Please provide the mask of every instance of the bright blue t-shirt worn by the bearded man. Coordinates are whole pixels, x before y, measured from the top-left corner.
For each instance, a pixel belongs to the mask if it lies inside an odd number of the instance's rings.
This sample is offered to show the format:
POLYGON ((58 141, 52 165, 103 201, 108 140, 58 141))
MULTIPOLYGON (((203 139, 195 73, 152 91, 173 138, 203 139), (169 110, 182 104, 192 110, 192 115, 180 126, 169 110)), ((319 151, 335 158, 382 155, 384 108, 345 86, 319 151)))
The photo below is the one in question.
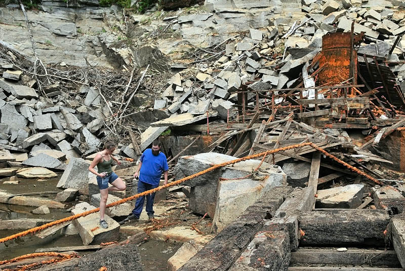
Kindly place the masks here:
POLYGON ((139 180, 151 185, 159 185, 161 174, 169 170, 165 153, 153 155, 152 149, 146 149, 141 156, 141 171, 139 180))

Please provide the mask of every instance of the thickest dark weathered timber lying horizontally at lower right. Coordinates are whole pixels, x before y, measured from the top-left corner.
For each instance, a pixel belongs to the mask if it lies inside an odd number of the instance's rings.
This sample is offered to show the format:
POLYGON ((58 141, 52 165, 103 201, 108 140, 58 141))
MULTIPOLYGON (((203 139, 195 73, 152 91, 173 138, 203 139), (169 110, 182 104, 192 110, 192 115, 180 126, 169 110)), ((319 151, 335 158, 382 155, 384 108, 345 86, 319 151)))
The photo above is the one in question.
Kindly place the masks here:
POLYGON ((351 209, 304 212, 299 225, 302 245, 385 245, 389 223, 384 210, 351 209))

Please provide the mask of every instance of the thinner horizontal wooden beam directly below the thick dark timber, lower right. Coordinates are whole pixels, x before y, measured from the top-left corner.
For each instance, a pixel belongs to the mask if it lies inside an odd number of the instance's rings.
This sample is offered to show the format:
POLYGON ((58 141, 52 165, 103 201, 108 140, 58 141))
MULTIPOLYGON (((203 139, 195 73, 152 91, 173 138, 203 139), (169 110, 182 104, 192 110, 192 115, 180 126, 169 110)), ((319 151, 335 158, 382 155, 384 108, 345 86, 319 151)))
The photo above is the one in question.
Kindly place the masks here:
POLYGON ((290 264, 371 265, 400 267, 394 250, 348 249, 304 249, 291 252, 290 264))

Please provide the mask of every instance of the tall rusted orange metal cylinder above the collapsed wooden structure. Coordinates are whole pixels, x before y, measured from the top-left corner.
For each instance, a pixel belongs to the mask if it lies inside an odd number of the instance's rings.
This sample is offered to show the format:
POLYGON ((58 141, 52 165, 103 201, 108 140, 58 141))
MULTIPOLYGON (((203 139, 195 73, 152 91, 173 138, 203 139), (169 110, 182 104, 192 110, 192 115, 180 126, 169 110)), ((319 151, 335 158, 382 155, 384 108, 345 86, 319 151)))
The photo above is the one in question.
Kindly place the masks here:
MULTIPOLYGON (((350 78, 350 32, 330 33, 322 37, 319 67, 325 66, 318 75, 317 85, 333 86, 350 78)), ((357 83, 357 51, 352 50, 354 81, 357 83)))

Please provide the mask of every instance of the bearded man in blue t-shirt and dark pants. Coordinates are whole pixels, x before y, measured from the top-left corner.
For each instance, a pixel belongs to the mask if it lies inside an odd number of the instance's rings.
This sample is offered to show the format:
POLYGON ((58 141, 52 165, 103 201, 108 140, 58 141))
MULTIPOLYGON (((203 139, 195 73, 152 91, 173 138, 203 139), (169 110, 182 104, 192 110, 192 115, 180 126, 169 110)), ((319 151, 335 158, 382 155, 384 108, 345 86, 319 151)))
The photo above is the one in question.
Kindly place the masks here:
MULTIPOLYGON (((142 153, 138 169, 134 174, 134 177, 136 179, 139 178, 138 194, 158 187, 162 173, 165 177, 164 185, 166 185, 168 183, 168 170, 169 166, 166 155, 163 152, 160 152, 160 142, 158 140, 154 140, 152 142, 152 148, 146 149, 142 153)), ((137 198, 135 208, 132 210, 132 213, 128 215, 126 221, 139 220, 145 197, 146 212, 148 214, 148 217, 149 219, 154 218, 153 200, 155 198, 155 193, 137 198)))

